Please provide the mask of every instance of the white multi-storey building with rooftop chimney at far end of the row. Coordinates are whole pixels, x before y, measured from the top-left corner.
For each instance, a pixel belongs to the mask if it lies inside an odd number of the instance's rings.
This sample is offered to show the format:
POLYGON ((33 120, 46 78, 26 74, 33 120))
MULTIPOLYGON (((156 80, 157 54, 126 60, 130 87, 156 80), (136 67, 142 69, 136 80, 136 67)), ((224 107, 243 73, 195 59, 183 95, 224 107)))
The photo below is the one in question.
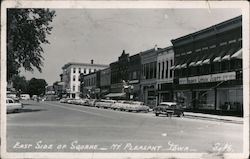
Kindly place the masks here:
POLYGON ((103 64, 91 63, 74 63, 70 62, 65 64, 63 69, 63 82, 64 88, 69 98, 79 99, 80 95, 80 74, 89 74, 109 67, 103 64))

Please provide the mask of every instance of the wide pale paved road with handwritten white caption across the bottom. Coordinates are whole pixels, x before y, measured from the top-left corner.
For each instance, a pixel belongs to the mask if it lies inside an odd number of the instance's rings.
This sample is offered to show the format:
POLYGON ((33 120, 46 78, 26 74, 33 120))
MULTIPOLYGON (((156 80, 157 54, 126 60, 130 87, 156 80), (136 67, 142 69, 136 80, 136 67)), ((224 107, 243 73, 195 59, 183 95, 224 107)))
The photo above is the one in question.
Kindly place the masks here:
POLYGON ((242 152, 243 125, 29 102, 7 115, 8 152, 242 152))

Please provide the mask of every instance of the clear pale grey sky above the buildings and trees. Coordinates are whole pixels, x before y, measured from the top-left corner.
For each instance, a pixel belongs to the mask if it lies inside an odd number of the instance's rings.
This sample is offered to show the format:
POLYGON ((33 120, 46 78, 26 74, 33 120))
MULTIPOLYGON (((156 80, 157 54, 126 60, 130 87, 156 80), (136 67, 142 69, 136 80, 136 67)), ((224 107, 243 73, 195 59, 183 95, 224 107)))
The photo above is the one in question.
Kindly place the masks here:
POLYGON ((42 73, 22 70, 27 80, 60 80, 68 62, 110 64, 130 55, 171 46, 171 40, 241 15, 239 9, 55 9, 53 30, 43 45, 42 73))

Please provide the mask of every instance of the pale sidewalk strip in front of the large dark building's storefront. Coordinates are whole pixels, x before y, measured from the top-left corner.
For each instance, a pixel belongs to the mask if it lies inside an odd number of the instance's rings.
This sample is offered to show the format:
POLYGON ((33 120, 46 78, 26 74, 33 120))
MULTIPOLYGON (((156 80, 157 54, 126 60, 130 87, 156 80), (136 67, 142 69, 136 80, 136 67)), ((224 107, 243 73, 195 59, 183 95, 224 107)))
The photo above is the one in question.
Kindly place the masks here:
POLYGON ((219 120, 236 124, 243 124, 242 117, 234 117, 234 116, 221 116, 221 115, 212 115, 212 114, 203 114, 203 113, 192 113, 185 112, 185 118, 199 118, 204 120, 219 120))

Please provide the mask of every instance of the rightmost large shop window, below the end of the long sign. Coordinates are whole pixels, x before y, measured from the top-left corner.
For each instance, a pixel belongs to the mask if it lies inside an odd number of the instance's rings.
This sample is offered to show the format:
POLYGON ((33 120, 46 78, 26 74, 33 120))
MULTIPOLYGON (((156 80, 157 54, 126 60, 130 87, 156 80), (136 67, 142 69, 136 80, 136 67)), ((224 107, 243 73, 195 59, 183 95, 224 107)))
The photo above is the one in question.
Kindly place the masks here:
POLYGON ((243 109, 243 89, 228 88, 217 91, 217 110, 240 111, 243 109))

